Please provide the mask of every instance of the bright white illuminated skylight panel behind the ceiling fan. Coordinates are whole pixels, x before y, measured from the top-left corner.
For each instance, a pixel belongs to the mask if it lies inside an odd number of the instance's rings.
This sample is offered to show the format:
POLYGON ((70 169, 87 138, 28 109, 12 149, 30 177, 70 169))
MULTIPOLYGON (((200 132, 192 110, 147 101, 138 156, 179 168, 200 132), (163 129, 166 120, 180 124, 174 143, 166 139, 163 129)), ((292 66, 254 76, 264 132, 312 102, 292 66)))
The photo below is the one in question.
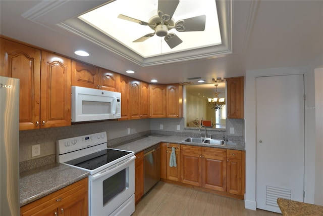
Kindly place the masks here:
POLYGON ((175 10, 175 22, 206 15, 204 31, 179 32, 175 28, 168 33, 175 33, 183 42, 171 49, 163 37, 156 34, 142 42, 134 40, 154 33, 147 25, 120 19, 120 14, 148 22, 157 15, 157 0, 117 0, 87 12, 78 18, 109 37, 117 40, 125 47, 134 51, 143 58, 160 56, 192 49, 221 45, 221 35, 217 14, 216 1, 214 0, 181 0, 175 10))

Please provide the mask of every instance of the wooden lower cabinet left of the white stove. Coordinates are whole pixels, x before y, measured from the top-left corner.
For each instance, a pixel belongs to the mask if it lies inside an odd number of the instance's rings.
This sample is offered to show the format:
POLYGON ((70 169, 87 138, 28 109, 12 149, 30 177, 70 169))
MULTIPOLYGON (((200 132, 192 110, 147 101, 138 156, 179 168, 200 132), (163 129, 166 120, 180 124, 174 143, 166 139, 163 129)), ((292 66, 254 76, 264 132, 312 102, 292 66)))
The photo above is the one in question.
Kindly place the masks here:
POLYGON ((22 206, 20 214, 88 215, 88 178, 22 206))

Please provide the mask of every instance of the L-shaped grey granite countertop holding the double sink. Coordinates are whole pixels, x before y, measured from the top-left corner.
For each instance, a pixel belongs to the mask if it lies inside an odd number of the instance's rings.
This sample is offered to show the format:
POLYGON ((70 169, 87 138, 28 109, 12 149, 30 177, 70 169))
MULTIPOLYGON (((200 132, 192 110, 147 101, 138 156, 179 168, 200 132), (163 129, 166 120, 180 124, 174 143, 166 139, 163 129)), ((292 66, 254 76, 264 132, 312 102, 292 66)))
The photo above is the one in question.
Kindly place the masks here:
POLYGON ((185 144, 185 145, 192 145, 192 146, 234 149, 234 150, 242 150, 242 151, 245 150, 244 146, 242 146, 242 145, 226 144, 224 146, 218 146, 218 145, 211 145, 211 144, 204 144, 204 143, 183 142, 183 140, 185 138, 187 138, 187 137, 182 137, 182 136, 143 137, 143 138, 138 138, 135 140, 123 142, 121 144, 112 146, 112 148, 126 150, 126 151, 134 151, 135 153, 138 153, 138 152, 141 152, 153 145, 163 142, 163 143, 185 144))

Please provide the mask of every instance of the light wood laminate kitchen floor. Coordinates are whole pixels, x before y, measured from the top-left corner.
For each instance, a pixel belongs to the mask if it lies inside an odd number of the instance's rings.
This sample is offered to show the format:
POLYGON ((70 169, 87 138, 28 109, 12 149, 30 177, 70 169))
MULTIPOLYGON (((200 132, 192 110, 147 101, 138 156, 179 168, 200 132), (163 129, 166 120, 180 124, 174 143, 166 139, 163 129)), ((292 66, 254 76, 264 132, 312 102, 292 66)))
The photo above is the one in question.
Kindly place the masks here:
POLYGON ((133 216, 213 215, 277 216, 271 211, 244 208, 244 201, 160 182, 136 205, 133 216))

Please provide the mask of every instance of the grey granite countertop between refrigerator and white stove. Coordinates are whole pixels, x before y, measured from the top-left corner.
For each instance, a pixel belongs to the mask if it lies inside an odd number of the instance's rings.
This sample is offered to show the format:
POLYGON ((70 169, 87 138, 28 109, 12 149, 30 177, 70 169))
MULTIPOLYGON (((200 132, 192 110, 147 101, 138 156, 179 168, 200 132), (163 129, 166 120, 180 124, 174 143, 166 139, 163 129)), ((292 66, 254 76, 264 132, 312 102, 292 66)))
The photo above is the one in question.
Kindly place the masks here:
POLYGON ((89 176, 64 164, 41 166, 20 173, 20 207, 89 176))

